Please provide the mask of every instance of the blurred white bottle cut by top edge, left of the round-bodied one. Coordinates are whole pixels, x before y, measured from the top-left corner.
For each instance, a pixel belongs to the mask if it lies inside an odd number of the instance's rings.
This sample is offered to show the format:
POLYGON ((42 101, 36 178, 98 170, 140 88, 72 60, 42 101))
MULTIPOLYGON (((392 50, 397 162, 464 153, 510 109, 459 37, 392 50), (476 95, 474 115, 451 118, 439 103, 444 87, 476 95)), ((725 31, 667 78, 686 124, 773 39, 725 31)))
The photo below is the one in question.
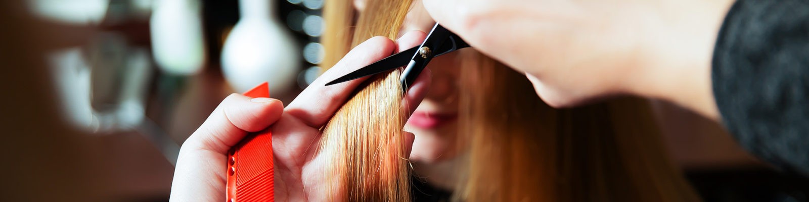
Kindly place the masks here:
POLYGON ((195 74, 205 62, 199 0, 155 2, 150 19, 152 53, 167 74, 195 74))

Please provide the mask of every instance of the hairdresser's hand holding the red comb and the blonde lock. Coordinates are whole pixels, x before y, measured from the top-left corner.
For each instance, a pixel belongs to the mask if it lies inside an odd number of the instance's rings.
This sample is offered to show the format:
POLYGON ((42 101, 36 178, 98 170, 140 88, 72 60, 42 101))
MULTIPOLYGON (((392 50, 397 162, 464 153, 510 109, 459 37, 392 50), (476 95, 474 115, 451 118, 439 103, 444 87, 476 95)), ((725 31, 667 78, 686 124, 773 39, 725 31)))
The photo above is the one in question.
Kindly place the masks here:
MULTIPOLYGON (((351 50, 290 103, 286 109, 277 99, 251 99, 230 95, 188 137, 180 149, 172 183, 172 201, 225 201, 227 150, 245 135, 273 126, 275 154, 275 199, 277 201, 328 201, 329 184, 323 170, 327 163, 312 162, 320 128, 337 112, 354 88, 365 78, 324 86, 354 69, 371 64, 424 40, 424 32, 409 32, 394 43, 377 36, 351 50)), ((405 96, 404 108, 415 109, 430 85, 429 69, 414 82, 405 96)), ((412 113, 412 112, 410 112, 412 113)), ((407 147, 413 145, 409 134, 407 147)), ((409 152, 408 152, 409 154, 409 152)), ((335 193, 339 194, 339 193, 335 193)))

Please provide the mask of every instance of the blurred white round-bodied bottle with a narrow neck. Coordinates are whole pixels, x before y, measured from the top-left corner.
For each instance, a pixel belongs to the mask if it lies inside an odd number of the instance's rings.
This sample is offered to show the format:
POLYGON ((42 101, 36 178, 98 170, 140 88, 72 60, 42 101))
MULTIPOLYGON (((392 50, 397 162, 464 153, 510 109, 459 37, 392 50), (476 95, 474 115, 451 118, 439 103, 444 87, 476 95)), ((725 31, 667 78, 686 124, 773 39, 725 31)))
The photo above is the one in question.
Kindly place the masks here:
POLYGON ((240 0, 241 19, 222 48, 222 72, 236 91, 269 82, 273 92, 290 90, 299 71, 299 47, 271 0, 240 0))

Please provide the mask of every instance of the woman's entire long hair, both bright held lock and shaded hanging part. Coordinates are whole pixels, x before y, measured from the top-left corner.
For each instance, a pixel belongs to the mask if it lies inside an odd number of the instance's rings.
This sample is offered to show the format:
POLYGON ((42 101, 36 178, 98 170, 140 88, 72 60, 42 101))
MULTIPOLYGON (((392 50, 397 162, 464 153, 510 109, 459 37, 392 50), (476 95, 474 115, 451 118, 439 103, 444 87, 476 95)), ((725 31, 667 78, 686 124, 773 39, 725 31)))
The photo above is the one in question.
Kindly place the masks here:
MULTIPOLYGON (((367 0, 362 15, 357 15, 351 2, 325 4, 326 67, 348 52, 352 45, 347 41, 396 36, 411 3, 367 0)), ((645 100, 554 109, 536 96, 522 74, 475 51, 464 51, 458 58, 464 66, 458 144, 468 159, 453 200, 699 200, 669 161, 645 100)), ((398 81, 394 78, 399 74, 371 78, 324 129, 321 148, 341 151, 335 167, 346 175, 345 192, 353 195, 345 199, 409 200, 406 162, 392 158, 396 152, 404 155, 397 147, 404 124, 398 109, 400 86, 383 83, 398 81), (374 146, 388 146, 388 153, 380 155, 384 159, 368 153, 380 152, 368 148, 374 146), (369 174, 373 168, 396 175, 377 181, 379 173, 369 174), (369 191, 382 194, 366 194, 369 191)))

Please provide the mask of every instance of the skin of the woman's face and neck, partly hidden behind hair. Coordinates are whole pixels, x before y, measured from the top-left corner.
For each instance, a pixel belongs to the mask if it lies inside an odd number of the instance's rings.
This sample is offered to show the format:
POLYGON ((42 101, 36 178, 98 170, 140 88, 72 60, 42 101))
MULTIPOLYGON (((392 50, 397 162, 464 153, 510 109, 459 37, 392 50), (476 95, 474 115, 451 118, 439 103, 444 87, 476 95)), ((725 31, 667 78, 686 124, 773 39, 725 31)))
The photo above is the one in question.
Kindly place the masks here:
MULTIPOLYGON (((355 8, 362 12, 365 0, 354 2, 355 8)), ((399 33, 430 32, 434 24, 435 21, 430 18, 421 0, 415 0, 404 18, 399 33)), ((426 69, 432 70, 432 82, 415 112, 457 117, 460 85, 458 77, 461 70, 457 56, 458 53, 448 53, 442 57, 435 57, 426 66, 426 69)), ((434 128, 422 128, 412 123, 404 125, 404 131, 415 135, 409 158, 413 163, 414 175, 444 190, 452 190, 455 187, 455 182, 460 177, 455 168, 459 151, 456 141, 458 127, 457 119, 448 120, 434 128)))

